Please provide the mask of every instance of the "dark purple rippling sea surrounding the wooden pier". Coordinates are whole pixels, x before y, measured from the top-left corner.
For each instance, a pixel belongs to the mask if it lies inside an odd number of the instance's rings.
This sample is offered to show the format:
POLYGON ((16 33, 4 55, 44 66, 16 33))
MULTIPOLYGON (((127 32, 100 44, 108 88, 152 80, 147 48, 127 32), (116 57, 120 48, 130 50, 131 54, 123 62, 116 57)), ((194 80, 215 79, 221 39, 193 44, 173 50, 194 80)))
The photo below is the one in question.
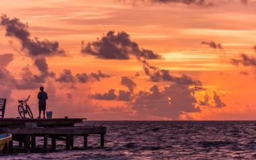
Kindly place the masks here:
MULTIPOLYGON (((256 159, 256 121, 86 121, 106 126, 105 148, 88 136, 88 149, 15 153, 0 159, 256 159)), ((42 139, 37 139, 42 145, 42 139)), ((83 139, 75 138, 75 147, 83 139)), ((49 141, 51 145, 51 141, 49 141)), ((50 146, 49 146, 50 148, 50 146)))

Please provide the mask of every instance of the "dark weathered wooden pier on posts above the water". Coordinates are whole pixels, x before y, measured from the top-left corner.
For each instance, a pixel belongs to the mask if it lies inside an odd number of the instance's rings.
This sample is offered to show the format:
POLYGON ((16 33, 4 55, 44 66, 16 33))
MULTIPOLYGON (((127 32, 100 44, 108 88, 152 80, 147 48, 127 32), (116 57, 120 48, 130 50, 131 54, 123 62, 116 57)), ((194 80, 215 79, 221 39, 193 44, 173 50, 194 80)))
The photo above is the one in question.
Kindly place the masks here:
MULTIPOLYGON (((84 138, 84 149, 88 147, 88 136, 90 134, 100 135, 100 147, 104 147, 104 126, 79 126, 80 118, 52 118, 52 119, 0 119, 0 132, 11 133, 13 141, 19 142, 19 148, 25 151, 36 149, 36 137, 43 137, 43 151, 48 151, 48 139, 51 138, 51 149, 56 149, 56 141, 65 141, 66 149, 74 147, 74 136, 84 138)), ((13 141, 9 143, 8 150, 13 151, 13 141)))

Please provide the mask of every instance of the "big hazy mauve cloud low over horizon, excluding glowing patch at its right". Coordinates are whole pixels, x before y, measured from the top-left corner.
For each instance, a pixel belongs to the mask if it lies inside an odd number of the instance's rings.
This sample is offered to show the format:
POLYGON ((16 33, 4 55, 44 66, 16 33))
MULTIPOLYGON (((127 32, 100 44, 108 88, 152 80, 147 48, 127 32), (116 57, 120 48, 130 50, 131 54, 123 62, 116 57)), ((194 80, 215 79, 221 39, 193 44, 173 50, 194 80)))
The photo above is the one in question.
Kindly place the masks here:
POLYGON ((140 91, 132 106, 140 116, 158 116, 178 120, 184 112, 200 112, 195 106, 195 91, 187 85, 171 85, 160 90, 154 85, 150 92, 140 91))

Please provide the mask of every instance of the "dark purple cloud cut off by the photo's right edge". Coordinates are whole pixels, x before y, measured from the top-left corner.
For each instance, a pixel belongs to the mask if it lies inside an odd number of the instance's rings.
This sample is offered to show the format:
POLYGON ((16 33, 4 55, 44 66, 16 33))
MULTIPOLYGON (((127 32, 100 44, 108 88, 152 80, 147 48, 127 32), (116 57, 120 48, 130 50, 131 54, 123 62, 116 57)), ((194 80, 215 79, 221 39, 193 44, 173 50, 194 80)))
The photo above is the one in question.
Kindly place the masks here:
POLYGON ((256 58, 248 56, 247 54, 241 54, 239 59, 232 58, 232 65, 244 65, 256 67, 256 58))

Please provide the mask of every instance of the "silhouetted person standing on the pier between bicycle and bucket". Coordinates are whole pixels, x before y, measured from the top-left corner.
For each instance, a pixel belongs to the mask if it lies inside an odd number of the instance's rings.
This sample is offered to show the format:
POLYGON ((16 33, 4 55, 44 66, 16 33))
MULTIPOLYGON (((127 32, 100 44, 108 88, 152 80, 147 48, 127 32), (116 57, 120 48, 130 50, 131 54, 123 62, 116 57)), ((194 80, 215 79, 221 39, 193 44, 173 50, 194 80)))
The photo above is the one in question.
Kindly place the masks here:
POLYGON ((47 96, 47 93, 44 91, 44 87, 40 87, 40 92, 38 93, 37 97, 38 97, 38 110, 39 110, 38 118, 41 118, 41 112, 43 112, 44 118, 45 118, 46 99, 48 99, 48 96, 47 96))

